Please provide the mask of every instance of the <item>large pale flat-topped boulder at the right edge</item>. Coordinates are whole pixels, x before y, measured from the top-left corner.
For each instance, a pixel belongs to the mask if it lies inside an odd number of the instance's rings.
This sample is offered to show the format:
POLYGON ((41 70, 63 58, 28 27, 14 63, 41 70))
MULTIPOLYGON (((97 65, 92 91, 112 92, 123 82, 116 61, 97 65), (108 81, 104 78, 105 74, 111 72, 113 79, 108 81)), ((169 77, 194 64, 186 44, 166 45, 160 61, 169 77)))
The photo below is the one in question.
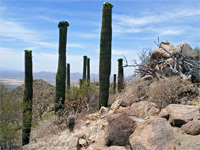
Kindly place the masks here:
POLYGON ((197 106, 180 104, 168 105, 158 116, 168 119, 169 123, 176 127, 181 127, 183 124, 193 119, 200 119, 197 106))

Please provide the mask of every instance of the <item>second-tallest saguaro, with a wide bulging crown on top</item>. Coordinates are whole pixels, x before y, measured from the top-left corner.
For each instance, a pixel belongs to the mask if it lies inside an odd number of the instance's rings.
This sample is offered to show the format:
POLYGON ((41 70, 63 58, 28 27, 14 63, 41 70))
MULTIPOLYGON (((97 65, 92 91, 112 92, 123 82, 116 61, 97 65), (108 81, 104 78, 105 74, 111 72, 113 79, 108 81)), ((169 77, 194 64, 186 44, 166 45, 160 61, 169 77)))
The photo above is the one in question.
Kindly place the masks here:
POLYGON ((66 86, 66 43, 67 43, 67 21, 61 21, 59 27, 59 58, 58 70, 56 74, 56 99, 55 113, 62 108, 61 104, 65 102, 65 86, 66 86))

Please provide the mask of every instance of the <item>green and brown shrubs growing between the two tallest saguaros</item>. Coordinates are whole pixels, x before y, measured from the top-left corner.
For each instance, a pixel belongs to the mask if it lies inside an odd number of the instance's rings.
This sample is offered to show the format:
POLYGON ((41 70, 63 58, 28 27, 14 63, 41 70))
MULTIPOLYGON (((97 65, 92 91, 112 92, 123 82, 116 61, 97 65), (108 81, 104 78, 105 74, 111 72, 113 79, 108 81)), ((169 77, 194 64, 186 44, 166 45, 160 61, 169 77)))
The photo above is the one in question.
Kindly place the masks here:
POLYGON ((66 122, 67 117, 71 114, 80 114, 82 112, 90 111, 90 109, 98 109, 97 87, 95 84, 84 82, 81 87, 72 86, 70 91, 66 92, 65 104, 63 109, 58 111, 60 123, 66 122), (95 103, 96 108, 90 107, 95 103))

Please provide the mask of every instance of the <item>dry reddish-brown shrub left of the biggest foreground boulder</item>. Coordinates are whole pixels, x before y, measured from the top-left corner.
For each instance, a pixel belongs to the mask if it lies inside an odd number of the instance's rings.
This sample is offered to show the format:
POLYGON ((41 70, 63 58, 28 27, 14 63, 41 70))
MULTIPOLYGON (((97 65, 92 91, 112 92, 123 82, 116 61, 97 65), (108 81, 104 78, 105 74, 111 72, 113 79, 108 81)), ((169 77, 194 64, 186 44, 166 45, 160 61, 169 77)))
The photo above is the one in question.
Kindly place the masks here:
POLYGON ((116 114, 108 117, 108 135, 106 145, 125 146, 129 143, 129 136, 135 130, 135 121, 126 113, 116 114))

